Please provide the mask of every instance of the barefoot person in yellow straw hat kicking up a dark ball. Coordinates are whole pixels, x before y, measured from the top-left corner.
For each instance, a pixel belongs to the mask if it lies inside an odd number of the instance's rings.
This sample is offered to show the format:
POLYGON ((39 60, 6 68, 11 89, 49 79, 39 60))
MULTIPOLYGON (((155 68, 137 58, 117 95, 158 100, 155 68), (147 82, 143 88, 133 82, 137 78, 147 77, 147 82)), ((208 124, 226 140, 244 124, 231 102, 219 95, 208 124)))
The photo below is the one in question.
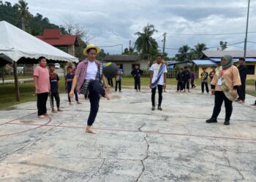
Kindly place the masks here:
POLYGON ((110 99, 110 88, 105 81, 105 76, 102 74, 102 64, 96 59, 99 52, 99 47, 95 47, 94 44, 89 44, 86 49, 83 50, 87 58, 78 64, 75 70, 72 88, 69 92, 69 96, 72 98, 78 83, 78 93, 82 93, 85 95, 85 98, 89 98, 91 111, 87 120, 86 132, 93 134, 97 134, 92 128, 92 124, 94 124, 99 110, 99 98, 102 96, 108 100, 110 99), (102 82, 105 89, 102 87, 102 82))

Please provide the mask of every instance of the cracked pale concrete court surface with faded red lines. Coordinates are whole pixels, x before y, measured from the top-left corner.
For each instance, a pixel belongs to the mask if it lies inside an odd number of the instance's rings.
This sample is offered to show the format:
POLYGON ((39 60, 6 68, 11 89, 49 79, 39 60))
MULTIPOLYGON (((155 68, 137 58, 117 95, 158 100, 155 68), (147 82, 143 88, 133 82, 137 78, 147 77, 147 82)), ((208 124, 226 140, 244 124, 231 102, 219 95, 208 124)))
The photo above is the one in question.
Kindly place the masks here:
POLYGON ((151 111, 150 90, 124 89, 100 101, 84 132, 89 101, 37 119, 36 103, 0 111, 0 181, 256 181, 255 98, 233 103, 230 126, 206 124, 214 96, 164 93, 151 111))

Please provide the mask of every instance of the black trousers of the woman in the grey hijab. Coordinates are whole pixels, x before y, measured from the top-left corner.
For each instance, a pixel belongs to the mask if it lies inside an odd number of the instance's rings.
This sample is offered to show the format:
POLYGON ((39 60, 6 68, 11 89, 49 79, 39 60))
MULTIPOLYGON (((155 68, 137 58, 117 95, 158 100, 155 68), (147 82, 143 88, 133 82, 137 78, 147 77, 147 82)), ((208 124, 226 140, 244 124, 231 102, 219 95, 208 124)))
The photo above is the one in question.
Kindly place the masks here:
POLYGON ((215 95, 214 113, 212 114, 211 118, 217 119, 217 117, 219 116, 219 113, 222 109, 222 103, 224 101, 225 109, 226 109, 225 120, 230 120, 230 116, 233 111, 233 106, 232 106, 233 102, 231 100, 229 100, 225 96, 224 92, 222 92, 222 91, 215 91, 214 95, 215 95))

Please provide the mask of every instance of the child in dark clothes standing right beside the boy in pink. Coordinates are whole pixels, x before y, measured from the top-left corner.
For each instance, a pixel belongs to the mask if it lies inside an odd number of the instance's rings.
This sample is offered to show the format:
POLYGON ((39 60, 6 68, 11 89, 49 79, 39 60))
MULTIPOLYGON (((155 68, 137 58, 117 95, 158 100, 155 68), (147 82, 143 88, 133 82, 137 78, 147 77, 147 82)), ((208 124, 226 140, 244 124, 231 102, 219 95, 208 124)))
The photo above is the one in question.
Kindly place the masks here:
POLYGON ((60 105, 60 98, 59 98, 59 76, 56 74, 55 71, 55 65, 54 63, 49 64, 49 71, 50 71, 50 107, 51 111, 53 113, 56 113, 57 111, 62 111, 59 108, 60 105), (57 110, 54 109, 54 100, 56 100, 57 110))

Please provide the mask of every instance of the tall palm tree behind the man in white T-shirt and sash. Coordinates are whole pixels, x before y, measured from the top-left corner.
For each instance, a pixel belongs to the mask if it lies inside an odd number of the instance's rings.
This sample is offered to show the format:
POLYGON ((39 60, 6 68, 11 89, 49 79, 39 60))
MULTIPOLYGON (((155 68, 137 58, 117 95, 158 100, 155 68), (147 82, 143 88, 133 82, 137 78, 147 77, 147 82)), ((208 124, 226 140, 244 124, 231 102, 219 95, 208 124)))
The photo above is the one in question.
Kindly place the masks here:
POLYGON ((135 33, 138 39, 135 41, 135 49, 140 52, 141 55, 150 54, 151 50, 157 50, 157 41, 152 38, 152 35, 157 32, 154 25, 146 25, 143 28, 143 32, 138 31, 135 33))

